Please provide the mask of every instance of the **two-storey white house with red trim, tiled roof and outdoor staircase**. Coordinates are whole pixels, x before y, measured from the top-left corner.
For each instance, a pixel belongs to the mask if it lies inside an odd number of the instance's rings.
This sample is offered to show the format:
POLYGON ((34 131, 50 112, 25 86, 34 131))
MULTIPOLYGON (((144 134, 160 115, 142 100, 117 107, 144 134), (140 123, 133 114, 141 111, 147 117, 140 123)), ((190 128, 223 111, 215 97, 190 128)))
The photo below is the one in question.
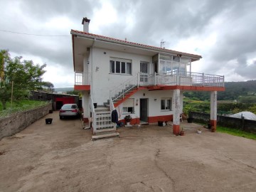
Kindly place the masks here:
POLYGON ((193 73, 191 65, 201 55, 95 35, 89 23, 83 18, 84 30, 70 33, 75 90, 82 91, 84 119, 92 119, 93 133, 115 129, 115 109, 119 119, 131 114, 132 124, 173 120, 178 134, 185 90, 210 92, 210 122, 216 127, 224 76, 193 73))

